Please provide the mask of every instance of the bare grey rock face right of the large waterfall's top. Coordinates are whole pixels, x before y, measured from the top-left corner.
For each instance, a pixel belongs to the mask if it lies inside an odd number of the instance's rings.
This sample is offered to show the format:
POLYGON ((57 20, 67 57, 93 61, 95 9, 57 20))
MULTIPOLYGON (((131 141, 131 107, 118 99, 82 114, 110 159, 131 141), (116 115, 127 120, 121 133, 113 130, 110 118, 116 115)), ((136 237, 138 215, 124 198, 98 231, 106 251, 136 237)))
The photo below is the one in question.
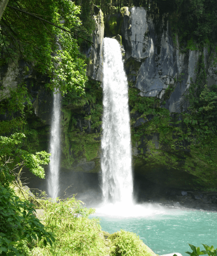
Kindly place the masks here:
MULTIPOLYGON (((122 43, 126 51, 126 62, 133 58, 139 64, 134 77, 126 69, 128 81, 141 90, 144 97, 158 97, 170 112, 187 109, 184 94, 192 81, 195 81, 195 68, 199 58, 198 51, 189 50, 183 54, 174 45, 168 19, 165 16, 147 16, 141 7, 127 9, 121 28, 122 43), (166 88, 172 92, 164 99, 166 88)), ((204 49, 204 57, 208 53, 204 49)), ((131 72, 132 73, 132 72, 131 72)), ((209 81, 217 80, 214 70, 209 69, 209 81)), ((162 106, 161 106, 162 107, 162 106)))

